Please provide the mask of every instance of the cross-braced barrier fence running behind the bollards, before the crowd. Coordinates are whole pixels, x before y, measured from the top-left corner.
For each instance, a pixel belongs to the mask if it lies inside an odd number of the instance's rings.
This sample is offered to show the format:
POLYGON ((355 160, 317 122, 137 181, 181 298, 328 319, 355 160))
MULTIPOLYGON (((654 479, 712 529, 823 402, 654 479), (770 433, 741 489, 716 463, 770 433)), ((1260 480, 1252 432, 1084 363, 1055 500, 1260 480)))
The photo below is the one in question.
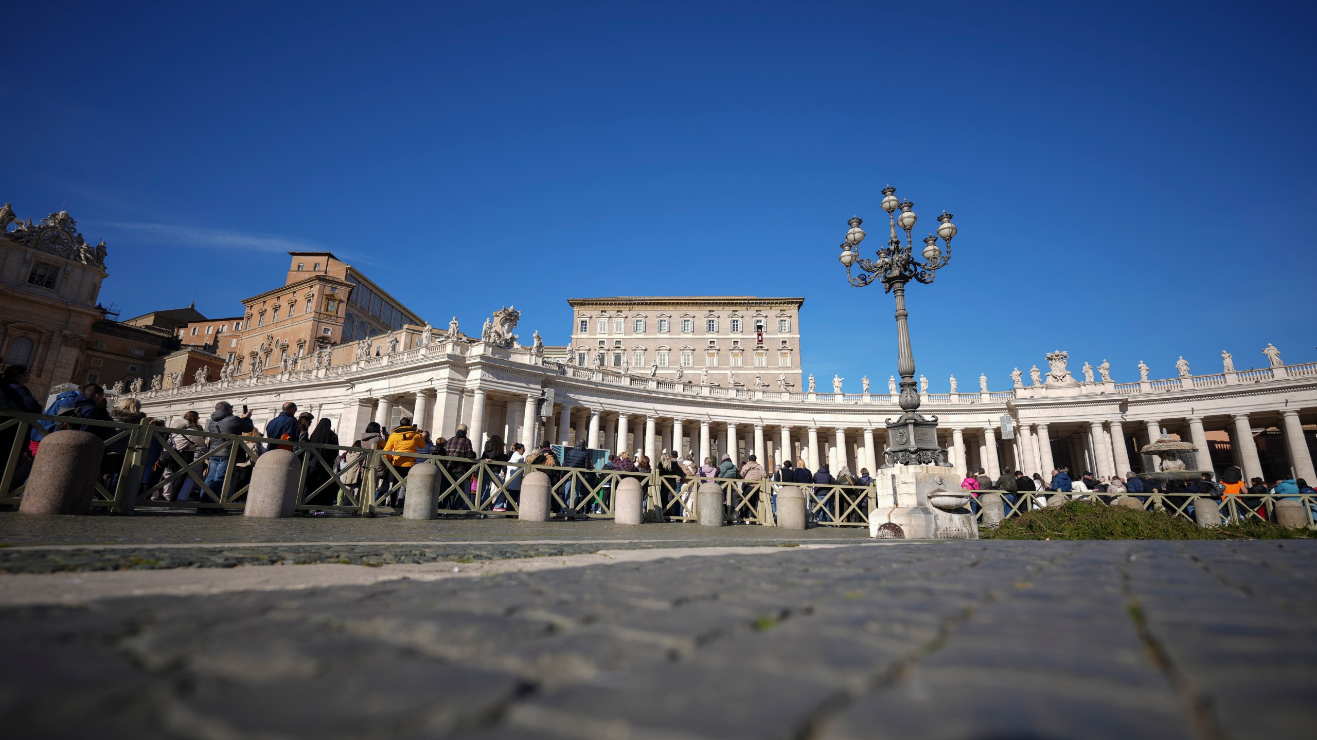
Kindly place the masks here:
MULTIPOLYGON (((784 486, 803 489, 809 517, 819 525, 868 527, 876 503, 876 486, 798 485, 790 482, 741 481, 735 478, 681 478, 652 473, 585 470, 528 462, 470 460, 441 454, 385 452, 377 449, 321 445, 294 440, 271 440, 254 433, 221 435, 198 429, 97 421, 68 416, 45 416, 0 411, 0 504, 16 506, 26 483, 29 440, 46 432, 40 421, 99 429, 107 456, 96 481, 92 506, 119 514, 132 514, 137 502, 155 494, 175 500, 150 500, 153 507, 241 510, 245 506, 254 461, 266 448, 292 452, 302 462, 298 511, 338 511, 371 515, 394 512, 398 494, 406 490, 407 475, 416 465, 435 465, 440 475, 440 515, 515 516, 520 481, 532 470, 548 474, 552 514, 579 519, 612 519, 614 498, 626 478, 640 482, 645 517, 649 521, 694 521, 698 517, 695 491, 701 483, 716 483, 723 491, 724 517, 744 524, 776 525, 776 498, 784 486), (12 436, 11 436, 12 435, 12 436), (170 437, 187 437, 202 453, 179 452, 170 437), (191 457, 190 457, 191 456, 191 457), (410 461, 410 462, 408 462, 410 461), (341 465, 340 465, 341 462, 341 465), (223 467, 223 473, 220 471, 223 467), (191 486, 188 486, 191 483, 191 486), (198 500, 176 500, 179 492, 196 492, 198 500)), ((1004 514, 1011 519, 1040 508, 1051 496, 1067 495, 1110 503, 1122 495, 1102 492, 1058 494, 1052 491, 977 491, 1008 494, 1004 514)), ((1191 521, 1198 499, 1220 502, 1222 521, 1274 520, 1279 500, 1304 504, 1308 525, 1317 527, 1317 496, 1239 494, 1222 498, 1201 494, 1151 492, 1134 495, 1144 510, 1166 511, 1191 521)), ((972 507, 982 520, 982 508, 972 507)))

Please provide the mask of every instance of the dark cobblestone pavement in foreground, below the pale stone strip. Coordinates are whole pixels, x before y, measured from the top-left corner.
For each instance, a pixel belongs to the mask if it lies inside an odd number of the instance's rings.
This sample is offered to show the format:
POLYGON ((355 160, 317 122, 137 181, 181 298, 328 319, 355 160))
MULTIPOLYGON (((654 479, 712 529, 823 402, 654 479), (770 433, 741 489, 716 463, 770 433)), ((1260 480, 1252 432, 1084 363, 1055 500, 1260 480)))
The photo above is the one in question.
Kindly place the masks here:
POLYGON ((0 611, 13 737, 1309 737, 1317 546, 959 542, 0 611))

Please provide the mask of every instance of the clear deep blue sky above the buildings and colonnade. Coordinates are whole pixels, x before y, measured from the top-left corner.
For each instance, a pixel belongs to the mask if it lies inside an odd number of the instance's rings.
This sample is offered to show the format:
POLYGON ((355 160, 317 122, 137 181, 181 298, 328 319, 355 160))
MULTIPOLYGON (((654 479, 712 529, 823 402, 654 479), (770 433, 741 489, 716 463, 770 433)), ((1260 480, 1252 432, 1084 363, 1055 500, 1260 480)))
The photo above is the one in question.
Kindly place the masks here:
POLYGON ((0 200, 105 238, 125 317, 329 249, 551 344, 568 298, 803 296, 805 370, 881 387, 892 299, 836 254, 892 183, 960 226, 910 290, 934 391, 1317 357, 1310 3, 21 5, 0 200))

